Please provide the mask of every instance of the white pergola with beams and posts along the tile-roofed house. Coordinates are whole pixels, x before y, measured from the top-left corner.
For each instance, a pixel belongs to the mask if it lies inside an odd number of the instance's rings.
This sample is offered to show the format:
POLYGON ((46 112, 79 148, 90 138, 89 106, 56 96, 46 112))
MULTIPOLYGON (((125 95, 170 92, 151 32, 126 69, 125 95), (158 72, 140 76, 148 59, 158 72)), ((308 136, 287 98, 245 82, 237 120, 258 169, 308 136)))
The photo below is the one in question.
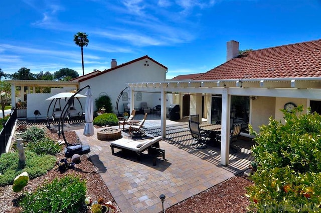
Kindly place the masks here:
MULTIPOLYGON (((228 165, 230 133, 230 102, 231 95, 240 96, 269 96, 291 97, 306 99, 321 99, 321 77, 308 78, 268 78, 268 79, 241 79, 241 80, 198 80, 198 81, 163 81, 128 83, 131 97, 134 92, 161 93, 161 135, 166 137, 166 93, 191 94, 211 97, 212 94, 222 95, 222 138, 221 164, 228 165)), ((202 104, 201 102, 196 104, 202 104)), ((132 110, 134 98, 130 99, 132 110)), ((207 108, 211 109, 211 101, 207 108)), ((208 118, 210 115, 208 115, 208 118)), ((208 119, 208 123, 210 120, 208 119)))

